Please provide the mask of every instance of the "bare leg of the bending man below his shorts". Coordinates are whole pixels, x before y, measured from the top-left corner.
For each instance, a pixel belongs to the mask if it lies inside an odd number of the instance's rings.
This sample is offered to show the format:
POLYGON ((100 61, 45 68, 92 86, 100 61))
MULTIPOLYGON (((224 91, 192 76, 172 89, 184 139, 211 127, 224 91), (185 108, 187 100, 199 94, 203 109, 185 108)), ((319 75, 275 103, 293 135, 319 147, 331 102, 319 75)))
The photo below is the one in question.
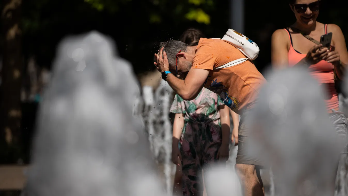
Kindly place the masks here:
POLYGON ((244 196, 263 196, 264 188, 260 178, 260 170, 255 165, 236 164, 236 173, 244 196))

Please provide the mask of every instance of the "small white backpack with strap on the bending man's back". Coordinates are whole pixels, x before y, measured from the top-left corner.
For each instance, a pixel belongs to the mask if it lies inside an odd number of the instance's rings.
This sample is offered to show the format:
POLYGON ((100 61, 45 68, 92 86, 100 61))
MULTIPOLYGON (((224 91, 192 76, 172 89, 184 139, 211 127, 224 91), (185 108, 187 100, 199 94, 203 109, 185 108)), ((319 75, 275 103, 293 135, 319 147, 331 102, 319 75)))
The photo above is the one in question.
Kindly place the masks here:
MULTIPOLYGON (((214 39, 220 39, 220 38, 214 38, 214 39)), ((236 47, 241 53, 243 53, 247 58, 239 58, 234 61, 228 62, 224 65, 221 65, 214 69, 222 69, 222 68, 228 68, 231 66, 238 65, 240 63, 243 63, 247 60, 255 60, 260 52, 260 48, 258 45, 256 45, 255 42, 251 41, 251 39, 244 36, 242 33, 238 33, 237 31, 233 29, 229 29, 225 35, 222 37, 222 40, 228 42, 229 44, 236 47)))

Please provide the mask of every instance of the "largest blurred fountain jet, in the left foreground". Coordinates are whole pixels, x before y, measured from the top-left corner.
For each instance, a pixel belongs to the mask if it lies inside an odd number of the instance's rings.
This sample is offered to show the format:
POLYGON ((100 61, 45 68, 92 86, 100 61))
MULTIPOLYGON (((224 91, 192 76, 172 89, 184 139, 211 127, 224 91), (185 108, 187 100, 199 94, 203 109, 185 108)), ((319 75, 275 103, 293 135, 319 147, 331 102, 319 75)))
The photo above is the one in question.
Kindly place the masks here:
POLYGON ((28 195, 166 195, 132 115, 139 86, 113 48, 97 32, 60 44, 39 110, 28 195))

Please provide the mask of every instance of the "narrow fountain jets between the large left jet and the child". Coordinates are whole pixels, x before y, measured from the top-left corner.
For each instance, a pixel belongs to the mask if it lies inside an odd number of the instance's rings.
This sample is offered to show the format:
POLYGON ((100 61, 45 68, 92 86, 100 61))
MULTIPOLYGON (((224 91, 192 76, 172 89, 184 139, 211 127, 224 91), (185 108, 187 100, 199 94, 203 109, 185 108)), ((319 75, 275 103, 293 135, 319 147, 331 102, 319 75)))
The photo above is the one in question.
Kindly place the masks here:
POLYGON ((148 132, 151 151, 158 165, 164 172, 165 187, 167 193, 172 192, 172 174, 174 164, 171 162, 172 153, 172 126, 168 116, 172 103, 172 88, 162 80, 159 87, 153 93, 150 86, 143 87, 144 110, 143 117, 148 132))

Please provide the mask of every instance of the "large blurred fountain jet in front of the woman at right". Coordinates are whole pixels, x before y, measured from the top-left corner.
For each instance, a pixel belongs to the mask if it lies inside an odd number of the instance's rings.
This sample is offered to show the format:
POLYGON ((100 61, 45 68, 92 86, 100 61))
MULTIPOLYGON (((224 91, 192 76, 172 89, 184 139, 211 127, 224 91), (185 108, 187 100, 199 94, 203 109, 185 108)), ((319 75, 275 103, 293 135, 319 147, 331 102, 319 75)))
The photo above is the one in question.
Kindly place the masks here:
POLYGON ((261 149, 251 153, 271 165, 275 195, 333 195, 344 143, 328 118, 323 90, 300 68, 271 73, 268 81, 249 118, 259 145, 251 149, 261 149))

